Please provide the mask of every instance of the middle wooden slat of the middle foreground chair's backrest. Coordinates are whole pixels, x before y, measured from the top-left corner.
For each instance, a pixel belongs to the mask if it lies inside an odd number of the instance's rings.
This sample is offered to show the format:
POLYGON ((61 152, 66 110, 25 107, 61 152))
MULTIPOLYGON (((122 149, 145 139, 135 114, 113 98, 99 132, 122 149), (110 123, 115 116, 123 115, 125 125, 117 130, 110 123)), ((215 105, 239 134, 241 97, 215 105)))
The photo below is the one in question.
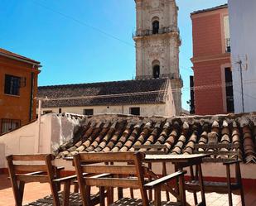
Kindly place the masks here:
POLYGON ((110 173, 110 174, 130 174, 136 175, 134 165, 85 165, 82 167, 86 173, 110 173))

